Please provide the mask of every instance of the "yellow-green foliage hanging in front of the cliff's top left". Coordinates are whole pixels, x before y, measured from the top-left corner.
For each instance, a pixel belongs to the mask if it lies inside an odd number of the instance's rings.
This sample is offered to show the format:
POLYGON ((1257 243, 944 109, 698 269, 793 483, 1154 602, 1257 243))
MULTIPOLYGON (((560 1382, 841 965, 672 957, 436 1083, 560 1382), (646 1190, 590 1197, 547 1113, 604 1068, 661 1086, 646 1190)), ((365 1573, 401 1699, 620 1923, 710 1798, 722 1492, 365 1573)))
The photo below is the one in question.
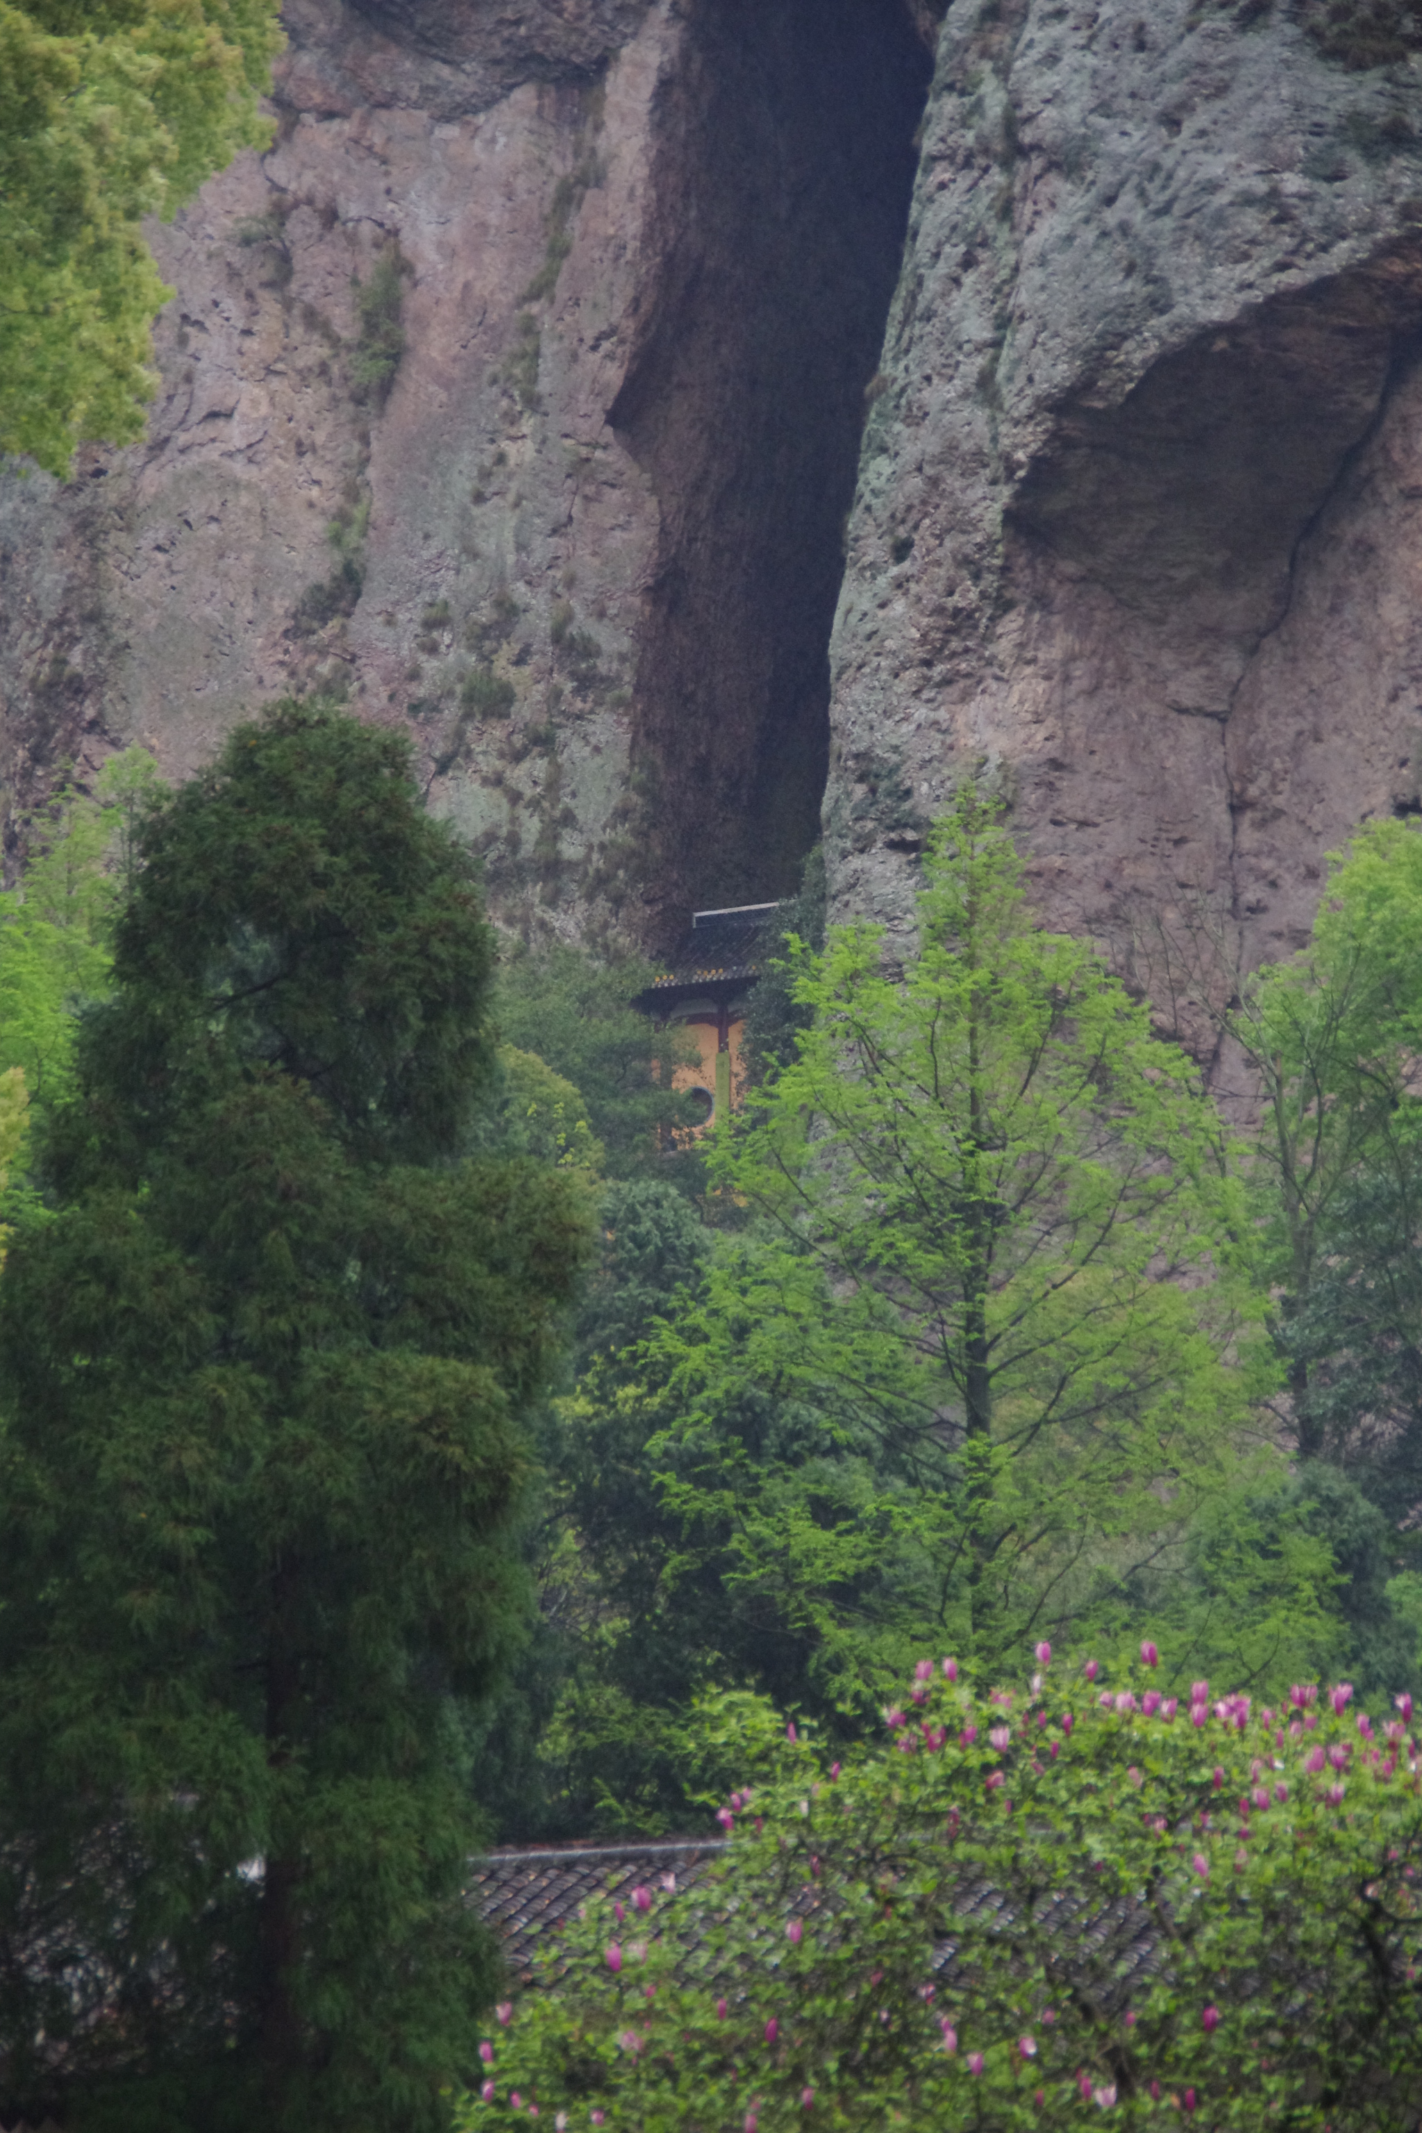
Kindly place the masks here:
POLYGON ((0 0, 0 452, 64 476, 143 435, 171 290, 141 222, 271 139, 279 49, 275 0, 0 0))

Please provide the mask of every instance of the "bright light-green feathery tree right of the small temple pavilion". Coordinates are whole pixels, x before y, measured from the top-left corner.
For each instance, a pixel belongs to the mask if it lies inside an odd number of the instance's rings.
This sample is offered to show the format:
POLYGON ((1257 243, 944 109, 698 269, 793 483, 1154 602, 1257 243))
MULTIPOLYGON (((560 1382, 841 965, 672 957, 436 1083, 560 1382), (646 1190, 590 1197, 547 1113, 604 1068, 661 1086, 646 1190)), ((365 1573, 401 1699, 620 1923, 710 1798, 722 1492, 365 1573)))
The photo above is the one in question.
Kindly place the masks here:
POLYGON ((825 1636, 836 1583, 883 1591, 893 1551, 878 1666, 927 1621, 989 1653, 1092 1619, 1228 1485, 1260 1391, 1213 1107, 1092 951, 1032 924, 972 793, 902 975, 874 926, 793 956, 812 1028, 712 1171, 757 1224, 663 1342, 667 1508, 825 1636), (763 1448, 727 1414, 767 1416, 763 1448))

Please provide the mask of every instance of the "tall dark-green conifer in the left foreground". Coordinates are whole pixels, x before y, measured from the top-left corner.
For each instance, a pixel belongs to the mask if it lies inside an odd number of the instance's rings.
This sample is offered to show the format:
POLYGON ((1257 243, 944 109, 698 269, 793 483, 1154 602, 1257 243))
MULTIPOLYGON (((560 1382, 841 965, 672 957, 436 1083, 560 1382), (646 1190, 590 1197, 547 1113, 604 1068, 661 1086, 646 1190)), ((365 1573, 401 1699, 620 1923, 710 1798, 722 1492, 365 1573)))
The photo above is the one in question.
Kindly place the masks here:
POLYGON ((586 1186, 465 1156, 492 945, 403 738, 277 706, 139 860, 0 1284, 4 2088, 414 2133, 586 1186))

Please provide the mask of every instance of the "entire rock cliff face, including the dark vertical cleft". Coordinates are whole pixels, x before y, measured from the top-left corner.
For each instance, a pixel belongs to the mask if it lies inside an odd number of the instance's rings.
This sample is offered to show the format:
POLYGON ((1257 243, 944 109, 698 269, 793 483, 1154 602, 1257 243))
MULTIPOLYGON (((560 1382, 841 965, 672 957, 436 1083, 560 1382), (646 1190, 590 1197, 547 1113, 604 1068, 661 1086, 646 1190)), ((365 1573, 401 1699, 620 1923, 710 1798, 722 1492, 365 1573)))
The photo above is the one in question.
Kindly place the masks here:
POLYGON ((774 896, 825 772, 900 924, 987 759, 1147 981, 1288 949, 1422 808, 1416 13, 290 0, 149 442, 0 482, 11 851, 60 759, 322 687, 512 924, 774 896))

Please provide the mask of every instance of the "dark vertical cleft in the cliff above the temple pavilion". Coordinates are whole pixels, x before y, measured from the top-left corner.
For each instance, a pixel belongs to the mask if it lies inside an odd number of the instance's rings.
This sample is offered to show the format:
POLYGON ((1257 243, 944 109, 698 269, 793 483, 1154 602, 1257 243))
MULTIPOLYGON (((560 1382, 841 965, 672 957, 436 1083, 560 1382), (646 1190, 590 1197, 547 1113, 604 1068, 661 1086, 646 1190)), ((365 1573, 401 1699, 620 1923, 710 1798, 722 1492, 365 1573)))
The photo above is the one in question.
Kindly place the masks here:
POLYGON ((697 0, 657 113, 665 273, 614 429, 661 506, 635 678, 648 936, 791 894, 932 77, 906 0, 697 0))

